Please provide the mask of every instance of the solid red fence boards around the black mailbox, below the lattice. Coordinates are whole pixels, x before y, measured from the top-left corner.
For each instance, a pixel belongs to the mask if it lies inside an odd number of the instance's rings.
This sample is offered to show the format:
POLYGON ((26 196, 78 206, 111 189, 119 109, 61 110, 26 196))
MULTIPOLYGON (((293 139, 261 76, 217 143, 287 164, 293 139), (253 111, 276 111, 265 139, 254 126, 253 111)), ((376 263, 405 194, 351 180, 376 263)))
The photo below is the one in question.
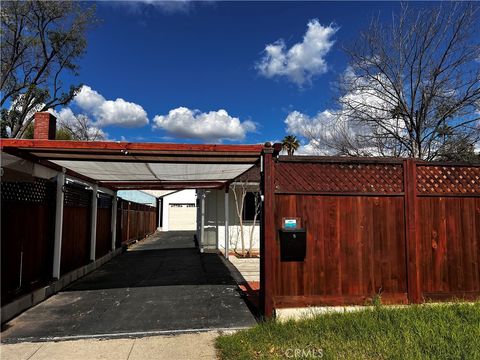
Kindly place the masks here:
POLYGON ((275 207, 277 229, 285 217, 307 229, 304 261, 281 262, 275 244, 276 306, 406 302, 401 197, 276 195, 275 207))

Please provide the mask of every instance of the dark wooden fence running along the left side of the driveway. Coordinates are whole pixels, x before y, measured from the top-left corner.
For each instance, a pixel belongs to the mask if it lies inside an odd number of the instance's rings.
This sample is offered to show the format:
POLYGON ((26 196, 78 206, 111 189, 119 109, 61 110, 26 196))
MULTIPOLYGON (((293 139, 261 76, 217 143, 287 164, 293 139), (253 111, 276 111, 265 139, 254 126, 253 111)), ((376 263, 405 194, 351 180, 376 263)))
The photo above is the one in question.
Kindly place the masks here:
MULTIPOLYGON (((52 280, 55 188, 54 182, 37 178, 2 181, 2 304, 52 280)), ((64 194, 61 275, 90 262, 91 241, 92 191, 67 184, 64 194)), ((155 216, 154 207, 119 199, 116 247, 154 232, 155 216)), ((111 251, 111 221, 112 197, 102 193, 97 200, 96 259, 111 251)))

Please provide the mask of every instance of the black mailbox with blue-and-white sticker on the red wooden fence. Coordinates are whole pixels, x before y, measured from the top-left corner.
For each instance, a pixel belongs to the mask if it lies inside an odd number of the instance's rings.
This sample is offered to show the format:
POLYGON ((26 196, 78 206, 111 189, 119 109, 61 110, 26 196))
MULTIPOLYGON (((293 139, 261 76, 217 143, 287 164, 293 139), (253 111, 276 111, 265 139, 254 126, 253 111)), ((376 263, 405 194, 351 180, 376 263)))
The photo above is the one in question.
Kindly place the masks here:
POLYGON ((280 238, 280 261, 304 261, 307 253, 307 231, 300 218, 283 218, 280 238))

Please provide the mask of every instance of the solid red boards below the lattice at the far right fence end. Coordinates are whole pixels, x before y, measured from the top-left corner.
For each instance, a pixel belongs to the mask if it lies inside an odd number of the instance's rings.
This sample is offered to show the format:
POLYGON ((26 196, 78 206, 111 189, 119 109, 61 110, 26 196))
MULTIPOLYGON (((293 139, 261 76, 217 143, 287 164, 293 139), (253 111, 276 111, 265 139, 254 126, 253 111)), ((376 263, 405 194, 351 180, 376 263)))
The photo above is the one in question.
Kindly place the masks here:
POLYGON ((422 197, 422 290, 480 291, 478 198, 422 197))

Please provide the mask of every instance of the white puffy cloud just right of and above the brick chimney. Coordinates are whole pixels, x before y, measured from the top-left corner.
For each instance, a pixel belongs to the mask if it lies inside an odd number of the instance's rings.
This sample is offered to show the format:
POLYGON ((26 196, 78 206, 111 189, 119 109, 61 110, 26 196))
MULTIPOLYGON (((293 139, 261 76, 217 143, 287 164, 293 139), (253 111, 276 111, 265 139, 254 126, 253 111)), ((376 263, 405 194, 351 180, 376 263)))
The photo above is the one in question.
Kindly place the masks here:
POLYGON ((121 98, 106 100, 87 85, 84 85, 75 96, 74 103, 92 115, 98 127, 109 125, 140 127, 148 124, 147 113, 140 105, 121 98))

